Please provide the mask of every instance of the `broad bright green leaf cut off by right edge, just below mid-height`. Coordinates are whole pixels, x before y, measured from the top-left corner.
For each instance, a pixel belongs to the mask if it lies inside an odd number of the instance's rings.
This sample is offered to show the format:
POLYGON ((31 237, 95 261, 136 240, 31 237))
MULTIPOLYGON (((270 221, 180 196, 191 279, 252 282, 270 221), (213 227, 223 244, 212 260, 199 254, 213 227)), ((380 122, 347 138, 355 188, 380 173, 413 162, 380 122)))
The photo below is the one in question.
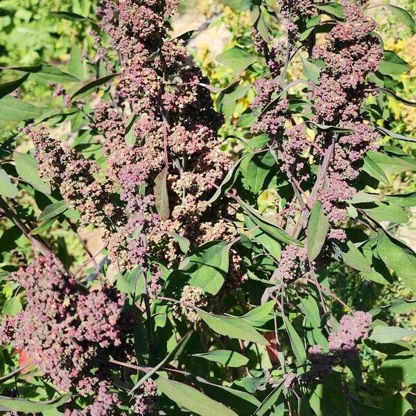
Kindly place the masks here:
POLYGON ((408 288, 416 291, 416 253, 401 241, 380 230, 377 252, 408 288))

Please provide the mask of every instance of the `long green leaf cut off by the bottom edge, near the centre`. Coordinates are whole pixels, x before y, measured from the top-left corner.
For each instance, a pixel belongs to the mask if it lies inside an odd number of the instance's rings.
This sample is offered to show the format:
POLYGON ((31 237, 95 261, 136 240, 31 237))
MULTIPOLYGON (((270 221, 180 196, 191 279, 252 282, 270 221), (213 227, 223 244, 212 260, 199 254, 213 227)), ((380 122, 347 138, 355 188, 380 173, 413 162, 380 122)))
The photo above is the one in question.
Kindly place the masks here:
POLYGON ((210 399, 196 388, 159 377, 155 381, 157 388, 179 406, 200 416, 238 416, 219 401, 210 399))

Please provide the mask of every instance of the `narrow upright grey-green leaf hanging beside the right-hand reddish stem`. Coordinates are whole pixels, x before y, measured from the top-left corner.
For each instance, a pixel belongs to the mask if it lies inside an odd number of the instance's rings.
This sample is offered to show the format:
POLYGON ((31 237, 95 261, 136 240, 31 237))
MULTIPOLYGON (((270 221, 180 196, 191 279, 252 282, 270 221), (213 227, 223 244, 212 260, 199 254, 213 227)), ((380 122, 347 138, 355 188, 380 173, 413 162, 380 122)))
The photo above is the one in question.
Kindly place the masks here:
POLYGON ((313 261, 320 254, 329 230, 329 220, 324 207, 316 201, 311 211, 308 224, 308 259, 313 261))

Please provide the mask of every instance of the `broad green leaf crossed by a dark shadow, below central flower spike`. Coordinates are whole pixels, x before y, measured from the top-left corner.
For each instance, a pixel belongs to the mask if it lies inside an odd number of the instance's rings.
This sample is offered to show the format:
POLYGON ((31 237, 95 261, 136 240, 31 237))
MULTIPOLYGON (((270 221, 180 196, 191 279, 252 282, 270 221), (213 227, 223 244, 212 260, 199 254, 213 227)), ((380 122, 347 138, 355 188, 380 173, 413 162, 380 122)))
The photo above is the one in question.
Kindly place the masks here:
POLYGON ((189 277, 189 284, 216 295, 223 286, 229 268, 229 249, 232 243, 209 241, 201 245, 180 267, 189 277))

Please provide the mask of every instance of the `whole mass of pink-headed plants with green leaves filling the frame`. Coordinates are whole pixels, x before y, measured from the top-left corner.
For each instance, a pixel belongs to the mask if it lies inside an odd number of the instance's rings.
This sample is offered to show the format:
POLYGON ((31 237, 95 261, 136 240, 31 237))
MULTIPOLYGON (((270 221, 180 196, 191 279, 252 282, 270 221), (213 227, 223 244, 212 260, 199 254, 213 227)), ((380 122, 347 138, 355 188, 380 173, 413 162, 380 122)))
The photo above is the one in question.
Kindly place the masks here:
POLYGON ((21 78, 0 85, 0 119, 24 121, 0 149, 0 243, 17 233, 1 252, 6 415, 415 408, 415 332, 386 314, 416 302, 416 254, 393 232, 416 196, 379 191, 416 170, 381 145, 416 141, 380 121, 388 97, 415 105, 397 94, 408 65, 383 50, 367 1, 222 3, 252 21, 216 57, 225 86, 189 55, 198 33, 171 36, 175 0, 56 11, 89 33, 87 62, 4 69, 21 78), (64 108, 22 101, 26 80, 53 85, 64 108), (56 223, 79 237, 81 265, 49 246, 56 223), (353 274, 408 293, 361 310, 331 290, 353 274), (383 397, 363 354, 379 359, 383 397))

